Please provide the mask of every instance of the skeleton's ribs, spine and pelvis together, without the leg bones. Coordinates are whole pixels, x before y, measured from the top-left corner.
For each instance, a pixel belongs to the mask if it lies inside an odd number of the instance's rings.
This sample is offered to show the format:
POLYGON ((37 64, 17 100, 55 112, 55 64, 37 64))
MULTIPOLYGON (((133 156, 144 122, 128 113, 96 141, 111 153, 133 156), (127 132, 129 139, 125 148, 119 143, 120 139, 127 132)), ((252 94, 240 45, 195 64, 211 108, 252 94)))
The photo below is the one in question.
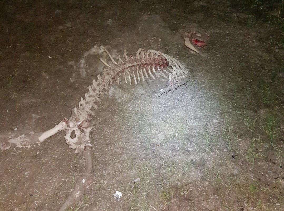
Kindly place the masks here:
MULTIPOLYGON (((69 126, 64 136, 70 148, 80 152, 85 146, 91 145, 89 141, 90 116, 94 115, 93 108, 97 108, 95 103, 100 101, 101 94, 109 90, 110 85, 114 82, 120 83, 122 77, 125 83, 136 85, 152 78, 163 77, 169 80, 169 86, 174 86, 179 79, 188 75, 188 70, 178 60, 161 53, 159 51, 139 49, 135 57, 128 57, 124 51, 124 58, 120 56, 114 60, 112 55, 105 47, 101 46, 111 60, 108 64, 100 59, 106 66, 103 74, 98 75, 98 80, 93 80, 92 86, 89 86, 89 92, 85 94, 85 99, 81 98, 79 107, 73 108, 72 115, 69 119, 69 126), (71 137, 71 132, 75 131, 76 137, 71 137)), ((75 151, 75 152, 76 152, 75 151)))

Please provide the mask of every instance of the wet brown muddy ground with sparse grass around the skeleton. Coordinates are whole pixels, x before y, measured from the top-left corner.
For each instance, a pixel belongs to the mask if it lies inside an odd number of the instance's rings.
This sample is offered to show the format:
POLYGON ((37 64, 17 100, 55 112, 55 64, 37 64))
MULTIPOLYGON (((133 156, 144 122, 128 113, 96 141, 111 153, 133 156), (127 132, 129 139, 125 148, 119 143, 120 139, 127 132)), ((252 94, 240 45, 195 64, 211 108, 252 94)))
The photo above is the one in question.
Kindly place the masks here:
MULTIPOLYGON (((102 71, 93 46, 166 47, 189 82, 158 98, 166 82, 111 87, 91 123, 93 183, 68 210, 283 210, 283 3, 246 2, 1 2, 1 141, 69 118, 102 71), (211 36, 202 56, 183 45, 191 24, 211 36)), ((60 208, 85 164, 63 136, 0 153, 0 210, 60 208)))

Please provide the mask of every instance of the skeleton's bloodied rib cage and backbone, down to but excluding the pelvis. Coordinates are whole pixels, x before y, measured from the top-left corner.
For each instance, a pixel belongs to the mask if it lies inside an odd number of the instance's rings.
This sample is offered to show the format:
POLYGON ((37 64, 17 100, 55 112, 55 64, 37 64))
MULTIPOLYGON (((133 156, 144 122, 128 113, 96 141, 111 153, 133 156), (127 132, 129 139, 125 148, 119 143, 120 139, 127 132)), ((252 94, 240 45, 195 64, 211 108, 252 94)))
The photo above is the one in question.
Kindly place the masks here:
MULTIPOLYGON (((188 70, 178 60, 161 53, 159 51, 139 49, 136 57, 128 57, 124 53, 124 61, 118 57, 115 61, 108 50, 102 49, 108 54, 112 64, 106 63, 100 59, 106 66, 103 75, 98 75, 98 80, 93 80, 92 86, 89 86, 89 93, 85 94, 85 99, 81 98, 79 109, 88 111, 93 106, 102 92, 108 91, 113 82, 119 85, 119 78, 122 76, 125 83, 134 82, 138 84, 148 78, 156 79, 160 76, 175 80, 186 76, 188 70)), ((95 106, 96 107, 96 106, 95 106)))

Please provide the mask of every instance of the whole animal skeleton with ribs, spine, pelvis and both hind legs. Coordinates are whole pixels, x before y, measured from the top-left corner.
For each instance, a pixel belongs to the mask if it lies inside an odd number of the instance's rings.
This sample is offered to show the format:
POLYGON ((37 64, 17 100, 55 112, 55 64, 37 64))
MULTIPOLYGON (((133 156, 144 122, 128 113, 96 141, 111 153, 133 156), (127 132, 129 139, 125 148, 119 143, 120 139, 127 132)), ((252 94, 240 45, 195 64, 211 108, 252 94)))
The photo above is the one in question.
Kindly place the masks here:
MULTIPOLYGON (((10 146, 14 143, 18 147, 30 147, 31 144, 39 144, 57 132, 66 130, 64 138, 69 148, 75 149, 75 153, 84 152, 87 163, 85 173, 78 179, 74 190, 59 211, 64 211, 72 205, 74 200, 79 199, 83 195, 84 188, 91 184, 92 145, 89 138, 91 130, 90 121, 95 114, 94 109, 98 108, 95 103, 101 101, 100 96, 109 90, 110 85, 114 82, 117 82, 119 85, 121 77, 125 83, 132 84, 134 82, 136 85, 143 83, 148 78, 167 78, 168 87, 161 89, 156 95, 158 97, 165 92, 174 91, 179 85, 184 84, 189 75, 187 68, 181 62, 159 51, 145 51, 140 48, 135 57, 128 57, 126 51, 124 51, 123 59, 118 56, 117 60, 115 60, 105 47, 101 46, 101 49, 106 52, 111 60, 111 64, 100 59, 106 66, 102 76, 98 75, 97 81, 93 80, 92 85, 88 87, 89 92, 85 93, 84 99, 81 98, 78 108, 75 107, 72 109, 69 119, 64 118, 54 128, 44 133, 24 134, 8 141, 10 146), (72 137, 71 133, 75 133, 75 137, 72 137)), ((9 147, 5 147, 4 149, 9 149, 9 147)))

